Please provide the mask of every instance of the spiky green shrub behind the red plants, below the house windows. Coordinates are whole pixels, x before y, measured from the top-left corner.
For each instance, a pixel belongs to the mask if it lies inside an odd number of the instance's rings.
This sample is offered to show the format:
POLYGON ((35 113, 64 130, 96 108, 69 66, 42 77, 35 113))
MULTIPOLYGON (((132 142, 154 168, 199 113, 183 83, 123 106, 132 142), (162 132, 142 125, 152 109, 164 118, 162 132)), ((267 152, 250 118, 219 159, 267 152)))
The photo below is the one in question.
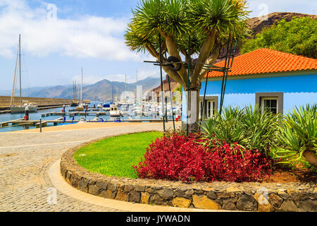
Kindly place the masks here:
POLYGON ((209 138, 214 135, 226 143, 239 143, 267 155, 278 143, 279 118, 279 114, 261 112, 258 105, 243 109, 225 107, 223 115, 217 113, 215 117, 205 119, 201 129, 209 138))

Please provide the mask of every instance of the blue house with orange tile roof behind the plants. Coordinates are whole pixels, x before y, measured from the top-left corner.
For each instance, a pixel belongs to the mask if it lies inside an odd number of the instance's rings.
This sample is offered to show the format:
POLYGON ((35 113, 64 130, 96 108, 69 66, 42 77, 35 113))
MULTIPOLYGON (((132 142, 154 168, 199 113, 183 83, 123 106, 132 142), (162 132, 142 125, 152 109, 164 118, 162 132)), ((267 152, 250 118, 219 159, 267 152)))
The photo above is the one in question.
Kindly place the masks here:
MULTIPOLYGON (((215 64, 224 66, 224 61, 215 64)), ((211 116, 220 106, 223 73, 208 73, 204 114, 211 116)), ((206 78, 200 90, 202 106, 206 78)), ((317 102, 317 60, 257 49, 240 55, 228 73, 223 107, 260 105, 273 113, 285 114, 293 107, 317 102)))

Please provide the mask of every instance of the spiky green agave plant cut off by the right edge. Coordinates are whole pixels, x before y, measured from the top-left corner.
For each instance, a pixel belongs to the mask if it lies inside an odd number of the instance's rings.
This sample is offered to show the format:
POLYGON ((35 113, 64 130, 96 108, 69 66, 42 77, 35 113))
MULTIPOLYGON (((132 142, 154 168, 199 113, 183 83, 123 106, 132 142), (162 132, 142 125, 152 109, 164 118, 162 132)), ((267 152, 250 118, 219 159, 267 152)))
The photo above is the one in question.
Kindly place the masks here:
POLYGON ((280 141, 285 143, 285 148, 276 149, 273 157, 285 159, 281 163, 294 164, 304 157, 317 168, 317 105, 293 108, 285 116, 280 141))

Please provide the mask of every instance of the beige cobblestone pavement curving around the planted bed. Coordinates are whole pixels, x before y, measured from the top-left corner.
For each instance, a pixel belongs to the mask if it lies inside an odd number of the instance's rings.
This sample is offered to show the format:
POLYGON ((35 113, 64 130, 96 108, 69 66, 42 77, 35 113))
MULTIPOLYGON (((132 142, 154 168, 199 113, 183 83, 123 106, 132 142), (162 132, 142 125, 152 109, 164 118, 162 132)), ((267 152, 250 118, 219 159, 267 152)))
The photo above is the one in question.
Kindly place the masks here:
POLYGON ((82 129, 46 133, 0 133, 0 211, 120 211, 54 192, 48 170, 75 145, 104 136, 132 131, 162 130, 161 124, 82 129), (49 199, 50 200, 50 199, 49 199))

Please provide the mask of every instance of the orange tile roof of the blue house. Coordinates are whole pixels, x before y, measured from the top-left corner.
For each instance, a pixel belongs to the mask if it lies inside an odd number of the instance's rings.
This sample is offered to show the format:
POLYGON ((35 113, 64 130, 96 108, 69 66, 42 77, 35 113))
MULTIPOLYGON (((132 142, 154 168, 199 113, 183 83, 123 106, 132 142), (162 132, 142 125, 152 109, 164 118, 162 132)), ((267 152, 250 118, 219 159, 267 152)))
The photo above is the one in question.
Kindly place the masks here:
MULTIPOLYGON (((221 61, 215 65, 225 66, 225 61, 221 61)), ((235 57, 228 76, 316 69, 317 59, 287 54, 272 49, 256 49, 253 52, 235 57)), ((209 78, 220 76, 223 76, 223 73, 220 71, 209 72, 209 78)))

